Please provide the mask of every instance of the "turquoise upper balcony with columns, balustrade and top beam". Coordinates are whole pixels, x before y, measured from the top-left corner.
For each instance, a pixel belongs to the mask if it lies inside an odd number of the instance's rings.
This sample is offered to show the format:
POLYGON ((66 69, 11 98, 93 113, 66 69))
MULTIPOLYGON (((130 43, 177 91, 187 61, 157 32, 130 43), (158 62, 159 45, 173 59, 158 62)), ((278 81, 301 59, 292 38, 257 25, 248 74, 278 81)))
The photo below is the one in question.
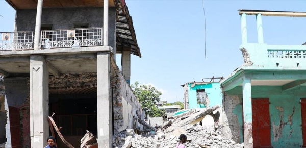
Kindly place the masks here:
POLYGON ((306 46, 268 45, 264 43, 262 16, 306 17, 306 12, 239 10, 241 15, 244 69, 306 69, 306 46), (246 15, 256 17, 258 43, 248 43, 246 15), (245 67, 246 66, 246 67, 245 67))

